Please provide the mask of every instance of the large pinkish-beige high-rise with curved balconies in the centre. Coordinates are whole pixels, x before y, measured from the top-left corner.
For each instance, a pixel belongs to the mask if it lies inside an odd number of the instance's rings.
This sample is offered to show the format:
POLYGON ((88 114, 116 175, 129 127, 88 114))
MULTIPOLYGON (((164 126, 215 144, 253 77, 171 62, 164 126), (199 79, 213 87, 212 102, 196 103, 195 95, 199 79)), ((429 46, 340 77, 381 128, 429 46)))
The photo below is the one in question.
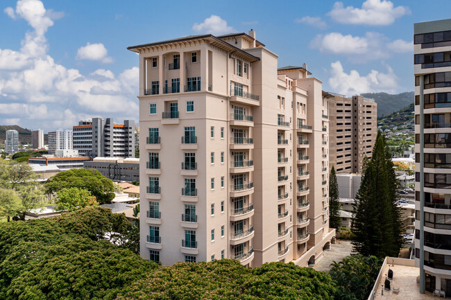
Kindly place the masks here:
POLYGON ((315 263, 330 247, 327 98, 255 32, 139 53, 141 255, 315 263))

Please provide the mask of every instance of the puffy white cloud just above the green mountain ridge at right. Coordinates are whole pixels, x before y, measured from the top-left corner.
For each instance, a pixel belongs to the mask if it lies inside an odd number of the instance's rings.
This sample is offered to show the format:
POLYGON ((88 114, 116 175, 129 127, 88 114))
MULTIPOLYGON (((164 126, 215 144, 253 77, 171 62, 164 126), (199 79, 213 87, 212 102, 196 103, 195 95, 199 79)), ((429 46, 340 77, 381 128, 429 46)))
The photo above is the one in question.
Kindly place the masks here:
POLYGON ((356 70, 346 73, 343 70, 341 62, 332 62, 330 65, 331 77, 329 85, 332 91, 346 96, 359 95, 361 93, 371 93, 384 91, 389 94, 395 94, 398 87, 398 78, 393 69, 387 66, 386 73, 371 70, 365 76, 361 76, 356 70))

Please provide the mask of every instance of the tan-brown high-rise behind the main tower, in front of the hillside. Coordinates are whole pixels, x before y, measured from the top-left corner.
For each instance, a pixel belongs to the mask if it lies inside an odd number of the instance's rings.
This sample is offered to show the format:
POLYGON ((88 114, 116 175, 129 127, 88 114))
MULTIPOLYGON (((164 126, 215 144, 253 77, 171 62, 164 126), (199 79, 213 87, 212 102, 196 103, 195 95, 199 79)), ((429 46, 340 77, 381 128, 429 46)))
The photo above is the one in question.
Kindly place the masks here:
POLYGON ((377 103, 362 96, 329 99, 329 164, 337 173, 361 173, 377 136, 377 103))

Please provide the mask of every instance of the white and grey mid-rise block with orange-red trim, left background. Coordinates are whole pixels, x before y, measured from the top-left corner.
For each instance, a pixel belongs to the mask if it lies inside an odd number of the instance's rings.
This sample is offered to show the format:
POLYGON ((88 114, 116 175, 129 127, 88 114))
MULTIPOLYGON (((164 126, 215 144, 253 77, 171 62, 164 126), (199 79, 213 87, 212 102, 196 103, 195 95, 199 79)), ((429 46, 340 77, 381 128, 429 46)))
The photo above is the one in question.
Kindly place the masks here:
POLYGON ((135 121, 92 118, 74 126, 74 150, 90 157, 135 157, 135 121))

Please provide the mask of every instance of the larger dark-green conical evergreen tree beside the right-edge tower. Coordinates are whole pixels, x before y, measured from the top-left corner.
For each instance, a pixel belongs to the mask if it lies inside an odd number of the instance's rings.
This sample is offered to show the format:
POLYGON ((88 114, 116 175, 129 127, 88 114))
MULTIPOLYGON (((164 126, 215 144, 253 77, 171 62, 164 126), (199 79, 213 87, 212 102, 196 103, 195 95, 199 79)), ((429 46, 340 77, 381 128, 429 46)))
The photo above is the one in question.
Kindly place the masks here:
POLYGON ((377 132, 371 159, 366 161, 355 197, 355 251, 377 257, 398 256, 402 245, 402 220, 396 204, 395 170, 384 136, 377 132))

